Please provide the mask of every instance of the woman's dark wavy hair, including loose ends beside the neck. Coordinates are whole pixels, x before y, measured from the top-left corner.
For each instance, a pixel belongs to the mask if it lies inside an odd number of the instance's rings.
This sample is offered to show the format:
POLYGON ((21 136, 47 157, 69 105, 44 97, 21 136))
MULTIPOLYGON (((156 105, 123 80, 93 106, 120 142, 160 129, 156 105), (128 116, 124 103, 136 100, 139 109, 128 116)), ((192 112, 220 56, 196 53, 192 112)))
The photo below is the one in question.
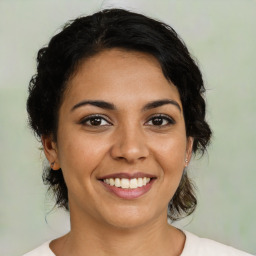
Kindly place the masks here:
MULTIPOLYGON (((142 14, 106 9, 67 23, 47 47, 39 50, 37 73, 29 84, 27 111, 30 127, 40 138, 51 135, 57 141, 58 112, 67 81, 79 64, 111 48, 153 55, 166 79, 178 88, 186 135, 194 138, 193 153, 203 154, 211 137, 205 121, 205 92, 201 72, 187 47, 173 28, 142 14)), ((43 180, 54 192, 56 205, 69 210, 68 189, 62 170, 45 167, 43 180)), ((180 185, 169 203, 168 217, 174 221, 191 214, 197 200, 194 186, 184 171, 180 185)))

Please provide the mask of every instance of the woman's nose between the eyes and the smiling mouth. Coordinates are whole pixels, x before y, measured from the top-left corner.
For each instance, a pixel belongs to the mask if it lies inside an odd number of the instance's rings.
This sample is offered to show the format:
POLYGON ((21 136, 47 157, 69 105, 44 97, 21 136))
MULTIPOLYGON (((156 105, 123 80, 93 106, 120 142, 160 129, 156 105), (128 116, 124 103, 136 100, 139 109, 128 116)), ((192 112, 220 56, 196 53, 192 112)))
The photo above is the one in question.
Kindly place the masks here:
POLYGON ((119 127, 114 137, 111 156, 115 160, 133 163, 148 157, 146 138, 140 128, 124 125, 119 127))

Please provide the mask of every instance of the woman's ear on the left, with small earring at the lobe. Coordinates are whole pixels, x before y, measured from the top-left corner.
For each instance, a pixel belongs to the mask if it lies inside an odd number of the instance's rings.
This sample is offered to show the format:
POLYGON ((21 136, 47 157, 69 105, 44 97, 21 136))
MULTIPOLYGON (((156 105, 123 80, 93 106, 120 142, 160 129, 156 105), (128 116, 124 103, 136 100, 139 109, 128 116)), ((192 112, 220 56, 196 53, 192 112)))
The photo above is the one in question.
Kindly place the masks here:
POLYGON ((57 144, 53 141, 52 136, 42 136, 41 137, 42 144, 44 147, 44 154, 47 158, 47 160, 50 163, 50 166, 53 170, 59 170, 60 164, 58 159, 58 150, 57 150, 57 144))

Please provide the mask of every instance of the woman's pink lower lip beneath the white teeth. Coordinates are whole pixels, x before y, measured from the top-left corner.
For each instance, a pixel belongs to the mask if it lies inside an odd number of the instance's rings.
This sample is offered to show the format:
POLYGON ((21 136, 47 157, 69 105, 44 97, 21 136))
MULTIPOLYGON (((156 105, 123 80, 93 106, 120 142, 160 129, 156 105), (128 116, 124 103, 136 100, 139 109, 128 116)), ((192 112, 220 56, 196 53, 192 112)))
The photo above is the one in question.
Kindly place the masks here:
POLYGON ((107 183, 101 181, 101 183, 107 188, 108 191, 112 192, 116 196, 122 199, 136 199, 144 194, 146 194, 152 187, 155 179, 151 179, 149 183, 140 188, 118 188, 115 186, 110 186, 107 183))

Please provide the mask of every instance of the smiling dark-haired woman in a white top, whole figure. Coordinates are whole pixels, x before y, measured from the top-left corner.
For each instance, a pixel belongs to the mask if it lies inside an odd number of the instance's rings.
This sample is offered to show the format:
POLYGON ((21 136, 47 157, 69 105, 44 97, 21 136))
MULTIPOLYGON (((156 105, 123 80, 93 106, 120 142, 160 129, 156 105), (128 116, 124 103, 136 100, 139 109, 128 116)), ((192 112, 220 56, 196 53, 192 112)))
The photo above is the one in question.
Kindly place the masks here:
POLYGON ((167 222, 196 207, 186 167, 211 137, 204 91, 176 32, 143 15, 104 10, 54 36, 27 109, 71 230, 26 256, 249 255, 167 222))

